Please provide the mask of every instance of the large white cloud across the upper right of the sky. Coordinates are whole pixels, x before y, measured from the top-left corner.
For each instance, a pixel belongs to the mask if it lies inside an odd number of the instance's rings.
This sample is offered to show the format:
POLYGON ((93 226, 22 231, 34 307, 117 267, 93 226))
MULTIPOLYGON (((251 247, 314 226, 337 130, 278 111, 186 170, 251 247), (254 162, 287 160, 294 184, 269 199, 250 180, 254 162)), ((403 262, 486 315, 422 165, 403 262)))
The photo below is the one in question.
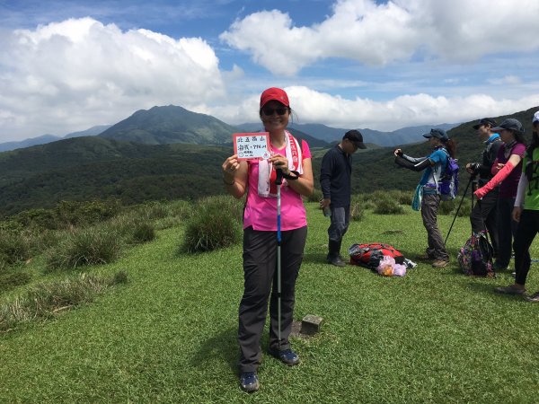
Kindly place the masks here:
POLYGON ((235 21, 220 39, 275 75, 295 75, 330 57, 369 66, 411 57, 462 63, 539 48, 537 15, 535 0, 340 0, 331 16, 309 27, 296 27, 287 13, 263 11, 235 21))

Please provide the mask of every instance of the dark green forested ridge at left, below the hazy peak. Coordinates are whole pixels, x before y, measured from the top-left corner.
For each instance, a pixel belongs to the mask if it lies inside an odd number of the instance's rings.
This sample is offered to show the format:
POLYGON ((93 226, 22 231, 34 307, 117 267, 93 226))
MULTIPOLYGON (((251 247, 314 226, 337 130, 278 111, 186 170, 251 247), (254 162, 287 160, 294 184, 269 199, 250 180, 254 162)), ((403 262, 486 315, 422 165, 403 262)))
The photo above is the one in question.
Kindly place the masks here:
POLYGON ((223 190, 221 164, 232 147, 142 145, 98 136, 0 154, 0 216, 60 200, 196 199, 223 190))

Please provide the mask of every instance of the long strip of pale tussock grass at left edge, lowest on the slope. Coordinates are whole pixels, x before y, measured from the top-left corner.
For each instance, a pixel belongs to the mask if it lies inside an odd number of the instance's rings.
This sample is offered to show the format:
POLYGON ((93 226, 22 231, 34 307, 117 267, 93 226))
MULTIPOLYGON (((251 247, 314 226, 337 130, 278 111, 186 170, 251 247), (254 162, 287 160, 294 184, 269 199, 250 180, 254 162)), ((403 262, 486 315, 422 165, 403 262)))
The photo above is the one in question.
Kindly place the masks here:
POLYGON ((114 277, 81 274, 74 279, 34 285, 11 303, 0 305, 0 331, 35 319, 47 319, 81 303, 92 302, 111 285, 125 283, 127 276, 119 272, 114 277))

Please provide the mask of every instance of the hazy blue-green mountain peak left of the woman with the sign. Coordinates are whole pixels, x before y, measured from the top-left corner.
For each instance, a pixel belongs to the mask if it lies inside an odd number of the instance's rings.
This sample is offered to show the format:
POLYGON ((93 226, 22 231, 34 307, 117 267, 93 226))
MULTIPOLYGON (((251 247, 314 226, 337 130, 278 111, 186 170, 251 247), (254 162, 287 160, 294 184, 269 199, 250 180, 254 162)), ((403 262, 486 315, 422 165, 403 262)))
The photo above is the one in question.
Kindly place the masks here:
POLYGON ((236 127, 205 114, 169 105, 138 110, 102 132, 101 137, 146 145, 230 143, 236 127))

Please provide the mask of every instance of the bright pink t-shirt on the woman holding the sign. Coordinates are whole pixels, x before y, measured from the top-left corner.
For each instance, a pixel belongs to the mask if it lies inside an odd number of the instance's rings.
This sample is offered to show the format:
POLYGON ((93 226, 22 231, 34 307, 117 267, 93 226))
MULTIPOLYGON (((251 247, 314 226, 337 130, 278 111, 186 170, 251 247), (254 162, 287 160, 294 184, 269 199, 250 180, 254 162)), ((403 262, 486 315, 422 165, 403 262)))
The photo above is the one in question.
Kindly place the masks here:
MULTIPOLYGON (((286 147, 274 149, 274 152, 286 155, 286 147)), ((301 141, 303 159, 311 158, 311 150, 305 140, 301 141)), ((247 205, 243 213, 243 229, 252 226, 254 230, 277 231, 277 198, 262 198, 258 194, 258 162, 249 164, 249 189, 247 191, 247 205)), ((281 230, 294 230, 307 225, 305 206, 301 195, 294 189, 281 186, 281 230)))

